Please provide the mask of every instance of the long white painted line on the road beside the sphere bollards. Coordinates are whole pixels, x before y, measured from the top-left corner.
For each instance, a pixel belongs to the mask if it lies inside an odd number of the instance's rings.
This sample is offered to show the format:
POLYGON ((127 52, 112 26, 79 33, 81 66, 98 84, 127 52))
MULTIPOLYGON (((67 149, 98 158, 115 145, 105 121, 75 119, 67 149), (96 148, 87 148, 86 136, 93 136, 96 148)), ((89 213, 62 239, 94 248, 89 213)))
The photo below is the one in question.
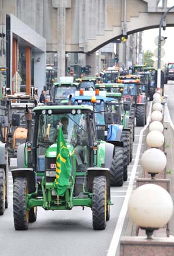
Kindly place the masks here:
POLYGON ((131 196, 131 193, 133 190, 133 183, 135 182, 135 175, 136 175, 136 170, 137 170, 137 166, 138 166, 137 164, 139 162, 139 156, 140 156, 140 151, 141 151, 141 147, 142 147, 143 132, 146 130, 146 128, 148 127, 148 124, 150 122, 151 105, 152 105, 152 103, 150 104, 150 111, 148 113, 147 124, 140 131, 139 145, 137 146, 135 164, 133 165, 133 168, 132 168, 132 174, 131 174, 131 178, 129 181, 128 190, 127 190, 121 211, 119 213, 117 225, 115 226, 115 230, 114 230, 113 237, 112 237, 112 240, 110 243, 110 247, 108 249, 107 256, 115 256, 115 253, 117 251, 117 247, 119 244, 119 238, 121 236, 122 228, 124 226, 124 221, 125 221, 125 217, 126 217, 126 212, 128 210, 129 197, 131 196))

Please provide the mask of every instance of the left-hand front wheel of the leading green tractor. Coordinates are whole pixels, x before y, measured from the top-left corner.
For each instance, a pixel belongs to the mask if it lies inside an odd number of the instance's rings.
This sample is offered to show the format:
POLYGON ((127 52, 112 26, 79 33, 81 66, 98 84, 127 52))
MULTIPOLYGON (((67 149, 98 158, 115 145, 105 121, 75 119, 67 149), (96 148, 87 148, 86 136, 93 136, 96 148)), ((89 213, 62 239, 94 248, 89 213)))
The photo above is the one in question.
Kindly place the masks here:
POLYGON ((29 211, 27 211, 26 194, 28 193, 27 179, 15 178, 13 185, 13 218, 16 230, 28 229, 29 211))

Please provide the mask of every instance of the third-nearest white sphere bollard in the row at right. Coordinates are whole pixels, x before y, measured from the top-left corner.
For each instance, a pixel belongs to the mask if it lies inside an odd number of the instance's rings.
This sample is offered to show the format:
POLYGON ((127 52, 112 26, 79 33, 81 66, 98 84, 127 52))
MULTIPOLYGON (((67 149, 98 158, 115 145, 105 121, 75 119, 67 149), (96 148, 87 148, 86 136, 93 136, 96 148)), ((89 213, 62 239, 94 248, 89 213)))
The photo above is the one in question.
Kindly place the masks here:
POLYGON ((147 134, 146 142, 149 147, 161 147, 164 144, 164 135, 159 131, 151 131, 147 134))

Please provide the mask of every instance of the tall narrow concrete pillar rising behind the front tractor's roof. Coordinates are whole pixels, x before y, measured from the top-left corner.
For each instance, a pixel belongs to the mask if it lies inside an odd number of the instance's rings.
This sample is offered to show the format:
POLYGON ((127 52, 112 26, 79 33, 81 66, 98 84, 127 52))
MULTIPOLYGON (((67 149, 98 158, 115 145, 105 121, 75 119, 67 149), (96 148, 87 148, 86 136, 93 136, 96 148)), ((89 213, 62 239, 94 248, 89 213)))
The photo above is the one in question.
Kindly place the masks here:
MULTIPOLYGON (((60 0, 61 2, 63 0, 60 0)), ((63 5, 62 5, 63 6, 63 5)), ((57 77, 65 75, 65 24, 66 8, 57 8, 57 77)))

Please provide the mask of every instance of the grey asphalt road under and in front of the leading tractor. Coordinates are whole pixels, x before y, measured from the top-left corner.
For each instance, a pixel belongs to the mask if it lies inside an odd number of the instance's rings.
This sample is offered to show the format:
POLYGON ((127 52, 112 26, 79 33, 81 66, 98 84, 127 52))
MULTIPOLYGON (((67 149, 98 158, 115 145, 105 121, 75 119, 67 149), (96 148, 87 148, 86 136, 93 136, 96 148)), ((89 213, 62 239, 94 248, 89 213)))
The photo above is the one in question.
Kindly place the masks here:
MULTIPOLYGON (((122 226, 115 229, 117 221, 124 222, 124 215, 119 215, 125 196, 130 185, 132 168, 136 171, 135 179, 139 176, 140 164, 135 157, 139 143, 140 130, 135 128, 135 142, 133 143, 133 160, 128 167, 128 181, 124 186, 111 188, 110 221, 105 230, 96 231, 92 228, 92 211, 89 208, 73 208, 71 211, 45 211, 38 208, 37 221, 30 223, 28 230, 16 231, 13 225, 12 175, 9 177, 9 208, 0 216, 0 255, 1 256, 106 256, 110 253, 113 234, 119 239, 122 226), (133 167, 133 165, 136 165, 133 167)), ((143 137, 144 140, 144 137, 143 137)), ((142 145, 143 146, 142 142, 142 145)), ((143 147, 140 150, 140 157, 143 147)), ((12 162, 14 164, 14 161, 12 162)), ((15 168, 10 166, 10 170, 15 168)), ((133 189, 136 183, 133 183, 133 189)), ((117 248, 114 248, 116 251, 117 248)), ((117 254, 119 255, 119 250, 117 254)))

